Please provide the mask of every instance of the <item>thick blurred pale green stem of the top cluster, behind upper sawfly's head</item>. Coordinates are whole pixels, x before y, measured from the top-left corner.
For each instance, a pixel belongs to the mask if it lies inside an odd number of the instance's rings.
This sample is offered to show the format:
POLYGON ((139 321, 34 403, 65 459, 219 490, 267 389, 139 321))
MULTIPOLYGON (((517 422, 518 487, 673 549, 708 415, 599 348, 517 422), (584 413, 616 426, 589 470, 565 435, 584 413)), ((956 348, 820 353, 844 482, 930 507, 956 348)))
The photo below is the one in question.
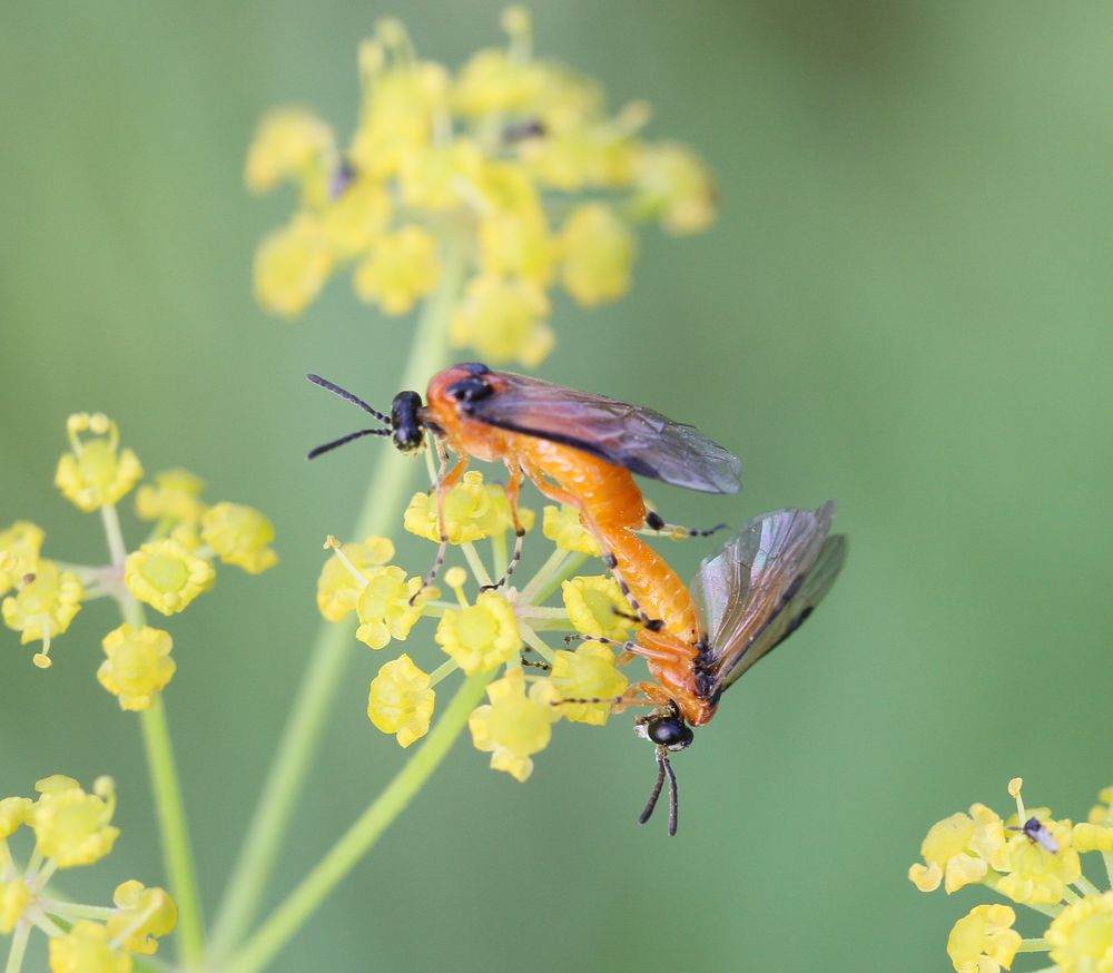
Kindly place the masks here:
MULTIPOLYGON (((441 284, 418 321, 402 379, 403 389, 423 387, 430 375, 447 364, 449 318, 463 274, 463 243, 453 240, 446 247, 441 284)), ((384 444, 356 519, 354 538, 388 535, 393 531, 412 472, 408 458, 384 444)), ((217 913, 211 941, 214 956, 226 954, 239 942, 258 914, 259 900, 270 884, 295 802, 321 745, 325 721, 352 655, 352 628, 351 622, 323 622, 317 629, 306 675, 217 913)))

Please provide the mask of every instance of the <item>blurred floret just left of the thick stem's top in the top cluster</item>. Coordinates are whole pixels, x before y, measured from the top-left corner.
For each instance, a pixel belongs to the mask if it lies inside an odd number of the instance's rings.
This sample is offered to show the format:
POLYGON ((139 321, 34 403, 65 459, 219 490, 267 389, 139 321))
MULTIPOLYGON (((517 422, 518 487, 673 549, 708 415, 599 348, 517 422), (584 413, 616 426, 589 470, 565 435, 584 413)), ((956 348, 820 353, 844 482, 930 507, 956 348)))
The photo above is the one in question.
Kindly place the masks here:
POLYGON ((441 278, 436 237, 416 225, 383 234, 355 268, 352 284, 364 301, 384 314, 408 312, 441 278))

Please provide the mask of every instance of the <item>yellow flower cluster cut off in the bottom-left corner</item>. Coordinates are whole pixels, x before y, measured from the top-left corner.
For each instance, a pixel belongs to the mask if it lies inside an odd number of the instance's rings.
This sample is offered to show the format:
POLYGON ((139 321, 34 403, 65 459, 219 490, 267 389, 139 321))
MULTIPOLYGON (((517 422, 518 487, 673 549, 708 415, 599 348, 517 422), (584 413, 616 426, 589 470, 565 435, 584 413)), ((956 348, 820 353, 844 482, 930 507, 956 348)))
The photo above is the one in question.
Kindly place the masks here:
POLYGON ((126 973, 131 955, 150 955, 158 940, 174 931, 177 908, 162 888, 136 879, 117 886, 114 908, 48 898, 45 887, 58 868, 92 865, 111 852, 119 836, 112 826, 116 789, 100 777, 86 792, 72 777, 56 774, 35 785, 39 797, 0 799, 0 934, 37 925, 50 936, 51 973, 126 973), (8 842, 21 828, 33 832, 36 854, 17 871, 8 842), (104 915, 104 922, 85 916, 104 915), (59 916, 63 931, 46 916, 59 916))

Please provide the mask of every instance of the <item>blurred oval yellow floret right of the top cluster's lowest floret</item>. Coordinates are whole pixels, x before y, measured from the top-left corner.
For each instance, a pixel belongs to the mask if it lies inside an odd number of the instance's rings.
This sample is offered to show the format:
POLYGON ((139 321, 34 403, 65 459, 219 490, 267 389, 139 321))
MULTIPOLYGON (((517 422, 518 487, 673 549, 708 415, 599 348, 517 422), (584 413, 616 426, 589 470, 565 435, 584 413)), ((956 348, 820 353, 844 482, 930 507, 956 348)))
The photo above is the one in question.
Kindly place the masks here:
POLYGON ((578 206, 561 234, 561 279, 580 304, 594 307, 630 289, 638 240, 601 203, 578 206))

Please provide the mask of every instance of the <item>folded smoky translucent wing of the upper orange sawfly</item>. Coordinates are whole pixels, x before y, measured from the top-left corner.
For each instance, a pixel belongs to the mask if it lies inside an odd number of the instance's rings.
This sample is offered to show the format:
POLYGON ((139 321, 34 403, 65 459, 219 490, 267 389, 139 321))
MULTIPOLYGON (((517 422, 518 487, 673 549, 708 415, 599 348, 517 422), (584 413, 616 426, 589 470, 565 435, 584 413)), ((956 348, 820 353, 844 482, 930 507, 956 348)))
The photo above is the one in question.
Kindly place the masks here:
POLYGON ((690 425, 511 372, 489 377, 496 391, 464 406, 472 419, 574 446, 674 486, 705 493, 736 493, 741 486, 738 458, 690 425))

